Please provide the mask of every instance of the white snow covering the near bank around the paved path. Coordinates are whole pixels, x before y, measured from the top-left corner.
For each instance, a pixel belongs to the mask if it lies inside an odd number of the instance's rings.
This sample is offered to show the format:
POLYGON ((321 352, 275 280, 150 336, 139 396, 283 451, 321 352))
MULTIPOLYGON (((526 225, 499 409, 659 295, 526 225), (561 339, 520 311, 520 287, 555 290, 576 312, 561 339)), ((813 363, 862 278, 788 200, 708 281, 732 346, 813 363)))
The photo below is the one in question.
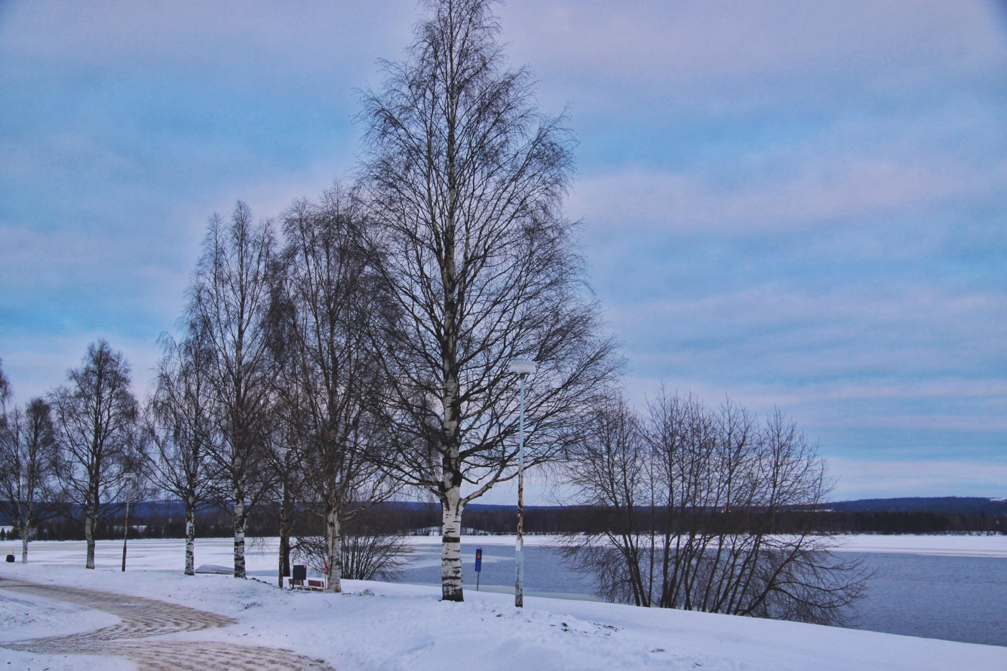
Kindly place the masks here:
MULTIPOLYGON (((335 669, 1004 669, 1007 648, 750 618, 348 580, 340 596, 225 575, 0 563, 0 577, 143 596, 230 616, 200 640, 293 649, 335 669), (369 594, 370 591, 371 594, 369 594)), ((108 624, 107 614, 0 589, 0 645, 108 624), (15 601, 12 601, 15 600, 15 601), (20 600, 20 601, 16 601, 20 600), (83 617, 87 614, 87 617, 83 617)), ((0 648, 0 660, 23 660, 0 648), (4 659, 4 656, 7 658, 4 659)), ((52 668, 94 668, 86 658, 52 668), (79 666, 75 666, 79 665, 79 666)))

